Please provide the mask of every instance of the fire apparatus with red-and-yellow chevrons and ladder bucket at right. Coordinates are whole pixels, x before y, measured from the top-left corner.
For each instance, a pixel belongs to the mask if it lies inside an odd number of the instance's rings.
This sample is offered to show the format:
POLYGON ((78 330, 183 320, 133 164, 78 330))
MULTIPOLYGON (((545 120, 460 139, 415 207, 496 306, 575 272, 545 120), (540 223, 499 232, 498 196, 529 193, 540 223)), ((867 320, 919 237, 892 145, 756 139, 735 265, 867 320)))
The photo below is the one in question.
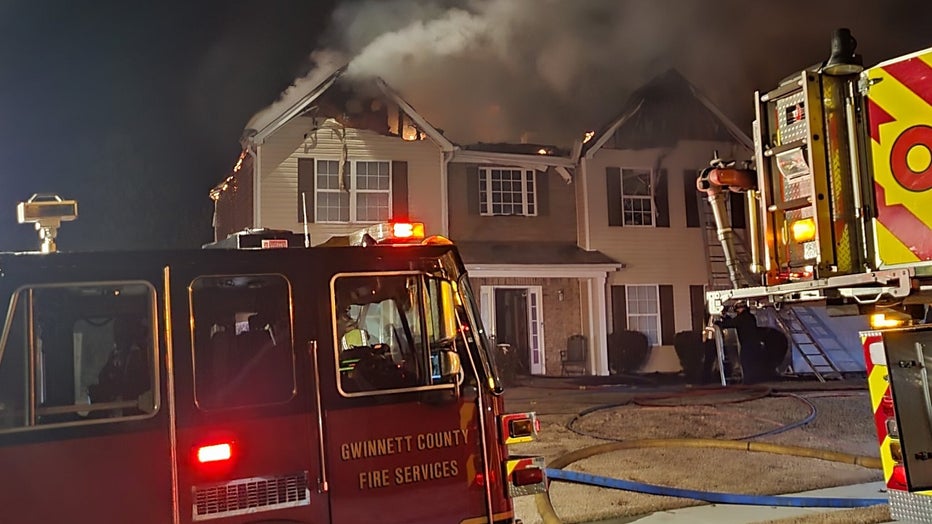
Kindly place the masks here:
POLYGON ((737 301, 870 314, 860 339, 891 513, 932 522, 932 48, 864 69, 855 47, 837 30, 825 63, 755 93, 756 169, 700 175, 735 284, 707 305, 713 319, 737 301), (729 192, 746 195, 747 265, 729 192))

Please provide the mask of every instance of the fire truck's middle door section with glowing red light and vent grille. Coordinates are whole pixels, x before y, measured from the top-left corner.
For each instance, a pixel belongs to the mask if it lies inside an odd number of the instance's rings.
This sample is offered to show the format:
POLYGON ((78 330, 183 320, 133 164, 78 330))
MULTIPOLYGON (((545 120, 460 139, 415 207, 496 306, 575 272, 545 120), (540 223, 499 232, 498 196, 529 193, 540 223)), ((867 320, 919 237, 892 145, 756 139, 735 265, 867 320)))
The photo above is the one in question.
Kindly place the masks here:
POLYGON ((325 522, 294 287, 280 267, 223 266, 171 275, 182 522, 325 522))

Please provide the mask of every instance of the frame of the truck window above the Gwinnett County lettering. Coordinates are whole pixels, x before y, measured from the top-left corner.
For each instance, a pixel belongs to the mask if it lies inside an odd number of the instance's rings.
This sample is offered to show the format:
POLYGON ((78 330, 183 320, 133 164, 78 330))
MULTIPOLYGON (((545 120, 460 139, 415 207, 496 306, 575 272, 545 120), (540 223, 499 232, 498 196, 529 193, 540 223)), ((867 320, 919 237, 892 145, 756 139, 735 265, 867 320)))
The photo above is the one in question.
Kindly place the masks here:
MULTIPOLYGON (((424 350, 430 353, 430 340, 428 340, 430 333, 430 326, 428 325, 428 316, 433 314, 433 310, 430 310, 430 305, 427 303, 427 279, 429 278, 438 278, 435 275, 425 273, 424 271, 359 271, 359 272, 340 272, 335 273, 330 278, 330 322, 331 329, 333 330, 333 357, 334 357, 334 375, 336 380, 337 392, 341 397, 346 398, 355 398, 355 397, 372 397, 377 395, 393 395, 399 393, 413 393, 418 391, 432 391, 432 390, 449 390, 455 389, 458 384, 451 382, 439 382, 439 383, 427 383, 420 384, 416 386, 409 387, 398 387, 390 389, 370 389, 365 391, 346 391, 343 389, 343 377, 341 376, 340 369, 340 358, 341 358, 341 335, 338 326, 338 306, 337 306, 337 297, 336 297, 336 282, 340 278, 358 278, 358 277, 411 277, 416 276, 420 279, 419 285, 419 297, 418 297, 418 307, 419 310, 419 325, 418 330, 420 332, 420 338, 422 345, 426 344, 424 350)), ((415 351, 418 351, 415 348, 415 351)), ((424 355, 418 355, 418 357, 423 358, 424 355)), ((425 365, 430 364, 429 359, 425 360, 425 365)), ((422 377, 424 382, 432 382, 433 378, 430 376, 430 370, 427 370, 427 376, 422 377)))

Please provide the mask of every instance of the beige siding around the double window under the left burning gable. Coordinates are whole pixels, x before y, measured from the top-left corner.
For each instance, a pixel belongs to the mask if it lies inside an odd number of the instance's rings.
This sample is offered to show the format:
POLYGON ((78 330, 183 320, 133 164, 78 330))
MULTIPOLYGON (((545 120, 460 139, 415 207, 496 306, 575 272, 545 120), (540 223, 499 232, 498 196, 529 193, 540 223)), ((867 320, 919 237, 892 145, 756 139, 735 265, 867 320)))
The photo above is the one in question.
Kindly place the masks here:
MULTIPOLYGON (((263 227, 302 231, 298 221, 298 158, 340 158, 342 130, 332 121, 313 130, 310 118, 299 117, 284 125, 260 148, 260 210, 263 227)), ((408 211, 424 222, 428 235, 441 234, 443 153, 430 141, 405 142, 375 132, 346 129, 349 160, 406 161, 408 163, 408 211)), ((313 195, 308 195, 308 214, 313 195)), ((309 224, 311 242, 346 234, 364 224, 309 224)))

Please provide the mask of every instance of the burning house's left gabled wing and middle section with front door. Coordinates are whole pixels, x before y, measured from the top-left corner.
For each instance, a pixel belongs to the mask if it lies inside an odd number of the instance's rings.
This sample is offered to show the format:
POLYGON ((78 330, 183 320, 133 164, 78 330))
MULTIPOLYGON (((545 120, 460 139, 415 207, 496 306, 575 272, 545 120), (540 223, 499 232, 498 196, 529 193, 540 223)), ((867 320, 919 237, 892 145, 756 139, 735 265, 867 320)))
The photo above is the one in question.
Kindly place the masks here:
POLYGON ((484 321, 521 371, 560 374, 568 338, 583 335, 583 370, 608 372, 605 282, 620 264, 577 245, 568 157, 459 147, 384 82, 345 69, 296 83, 241 142, 211 191, 216 239, 306 229, 318 245, 376 222, 424 222, 460 246, 484 321))

